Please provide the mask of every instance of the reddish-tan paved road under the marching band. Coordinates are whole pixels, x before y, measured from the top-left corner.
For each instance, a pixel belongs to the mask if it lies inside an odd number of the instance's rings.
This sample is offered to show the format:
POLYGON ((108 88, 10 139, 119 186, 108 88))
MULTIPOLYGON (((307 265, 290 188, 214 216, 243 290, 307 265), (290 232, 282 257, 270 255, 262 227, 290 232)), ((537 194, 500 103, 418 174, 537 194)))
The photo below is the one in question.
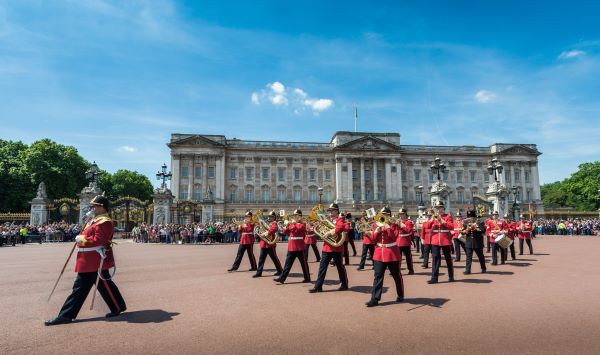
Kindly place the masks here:
MULTIPOLYGON (((542 236, 536 254, 488 274, 464 276, 464 261, 456 263, 452 284, 443 275, 427 285, 429 270, 416 266, 404 276, 406 301, 392 302, 386 276, 376 308, 364 306, 373 274, 356 270, 357 257, 350 291, 309 294, 297 263, 285 285, 227 273, 235 245, 124 241, 115 281, 127 313, 107 321, 102 299, 90 311, 88 297, 77 322, 44 327, 72 286, 74 274, 65 273, 46 303, 69 248, 0 248, 0 353, 600 353, 600 238, 542 236)), ((280 244, 282 263, 285 251, 280 244)), ((314 280, 318 264, 309 264, 314 280)), ((266 267, 274 272, 270 260, 266 267)), ((245 258, 240 269, 248 268, 245 258)), ((325 290, 335 290, 335 268, 327 276, 325 290)))

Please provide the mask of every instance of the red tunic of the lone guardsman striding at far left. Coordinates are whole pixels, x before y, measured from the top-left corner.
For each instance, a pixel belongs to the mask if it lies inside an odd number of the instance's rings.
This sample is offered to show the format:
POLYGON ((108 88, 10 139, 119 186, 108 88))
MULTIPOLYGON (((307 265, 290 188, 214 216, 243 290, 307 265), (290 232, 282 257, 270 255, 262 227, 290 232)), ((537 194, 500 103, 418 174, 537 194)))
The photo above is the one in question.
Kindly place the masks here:
POLYGON ((91 224, 88 224, 81 232, 86 241, 78 244, 80 249, 77 252, 75 272, 97 272, 100 267, 100 253, 95 250, 85 251, 86 248, 104 247, 106 258, 102 264, 102 270, 115 266, 115 259, 110 247, 114 230, 113 222, 107 214, 94 217, 91 224))

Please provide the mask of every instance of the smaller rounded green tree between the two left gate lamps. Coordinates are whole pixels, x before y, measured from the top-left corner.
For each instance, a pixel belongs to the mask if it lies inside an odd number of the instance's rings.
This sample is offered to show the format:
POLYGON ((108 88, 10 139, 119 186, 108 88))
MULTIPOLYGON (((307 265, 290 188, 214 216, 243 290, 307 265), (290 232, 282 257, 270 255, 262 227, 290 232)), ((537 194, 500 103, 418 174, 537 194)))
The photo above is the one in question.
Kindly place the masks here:
MULTIPOLYGON (((109 186, 109 184, 106 186, 109 186)), ((148 201, 152 198, 150 180, 135 171, 117 170, 110 177, 110 186, 110 190, 106 191, 109 200, 114 201, 125 196, 136 197, 142 201, 148 201)))

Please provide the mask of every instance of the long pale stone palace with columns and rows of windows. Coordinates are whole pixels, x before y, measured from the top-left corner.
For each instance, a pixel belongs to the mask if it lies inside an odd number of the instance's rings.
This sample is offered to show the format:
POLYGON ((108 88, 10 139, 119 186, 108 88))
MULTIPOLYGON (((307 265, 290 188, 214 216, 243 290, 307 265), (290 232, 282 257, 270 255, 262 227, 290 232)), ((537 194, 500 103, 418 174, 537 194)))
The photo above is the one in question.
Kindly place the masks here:
MULTIPOLYGON (((192 204, 198 212, 175 220, 200 220, 211 206, 215 220, 247 210, 308 210, 337 202, 349 212, 388 205, 415 214, 437 175, 436 157, 446 166, 441 180, 450 189, 451 211, 464 210, 473 196, 485 195, 488 162, 503 166, 499 182, 516 187, 517 200, 543 210, 535 144, 495 143, 488 147, 404 145, 398 133, 336 132, 327 143, 252 141, 222 135, 171 135, 171 191, 174 205, 192 204)), ((190 209, 186 211, 189 213, 190 209)))

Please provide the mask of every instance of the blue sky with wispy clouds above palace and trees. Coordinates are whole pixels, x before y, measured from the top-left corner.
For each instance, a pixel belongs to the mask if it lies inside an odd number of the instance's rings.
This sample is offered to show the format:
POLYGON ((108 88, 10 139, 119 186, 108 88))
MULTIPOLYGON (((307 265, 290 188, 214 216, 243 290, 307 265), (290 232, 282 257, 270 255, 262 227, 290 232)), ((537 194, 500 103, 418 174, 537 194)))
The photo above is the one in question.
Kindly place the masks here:
POLYGON ((540 182, 600 160, 593 1, 0 0, 0 139, 109 172, 171 133, 537 144, 540 182))

